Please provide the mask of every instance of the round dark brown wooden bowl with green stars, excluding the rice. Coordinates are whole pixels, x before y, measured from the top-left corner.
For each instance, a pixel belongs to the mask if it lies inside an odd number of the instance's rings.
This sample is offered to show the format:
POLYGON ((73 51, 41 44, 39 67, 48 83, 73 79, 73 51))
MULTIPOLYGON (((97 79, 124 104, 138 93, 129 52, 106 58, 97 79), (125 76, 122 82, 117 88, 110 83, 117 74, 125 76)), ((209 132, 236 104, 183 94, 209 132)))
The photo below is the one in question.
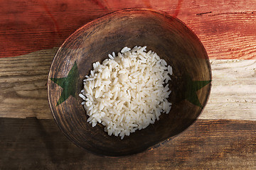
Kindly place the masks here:
POLYGON ((177 18, 162 11, 126 9, 87 23, 65 40, 50 67, 48 101, 55 122, 76 145, 107 156, 136 154, 186 130, 206 106, 211 71, 208 55, 198 37, 177 18), (78 96, 82 79, 93 62, 102 62, 122 47, 147 46, 173 67, 169 114, 144 130, 109 136, 101 124, 95 128, 78 96))

